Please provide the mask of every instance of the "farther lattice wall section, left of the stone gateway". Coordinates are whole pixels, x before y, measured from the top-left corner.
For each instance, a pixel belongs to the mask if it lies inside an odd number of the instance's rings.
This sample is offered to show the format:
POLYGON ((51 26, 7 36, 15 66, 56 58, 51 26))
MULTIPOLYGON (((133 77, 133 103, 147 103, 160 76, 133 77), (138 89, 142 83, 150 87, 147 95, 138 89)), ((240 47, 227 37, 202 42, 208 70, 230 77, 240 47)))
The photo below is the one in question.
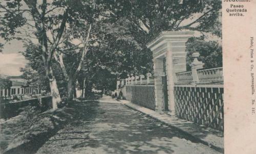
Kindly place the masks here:
POLYGON ((125 87, 126 100, 140 106, 155 109, 154 85, 126 85, 125 87))

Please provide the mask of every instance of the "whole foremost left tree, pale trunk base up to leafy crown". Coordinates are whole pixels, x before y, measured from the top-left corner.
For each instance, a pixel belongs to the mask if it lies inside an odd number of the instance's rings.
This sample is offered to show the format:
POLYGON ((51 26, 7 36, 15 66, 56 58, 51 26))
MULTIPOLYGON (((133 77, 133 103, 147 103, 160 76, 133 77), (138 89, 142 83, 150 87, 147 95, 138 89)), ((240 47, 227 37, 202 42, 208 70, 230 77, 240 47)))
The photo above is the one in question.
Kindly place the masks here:
POLYGON ((0 4, 1 36, 5 40, 21 39, 38 46, 52 94, 53 109, 61 101, 57 81, 52 69, 52 59, 57 46, 68 35, 63 35, 69 25, 91 16, 91 1, 37 1, 11 0, 0 4))

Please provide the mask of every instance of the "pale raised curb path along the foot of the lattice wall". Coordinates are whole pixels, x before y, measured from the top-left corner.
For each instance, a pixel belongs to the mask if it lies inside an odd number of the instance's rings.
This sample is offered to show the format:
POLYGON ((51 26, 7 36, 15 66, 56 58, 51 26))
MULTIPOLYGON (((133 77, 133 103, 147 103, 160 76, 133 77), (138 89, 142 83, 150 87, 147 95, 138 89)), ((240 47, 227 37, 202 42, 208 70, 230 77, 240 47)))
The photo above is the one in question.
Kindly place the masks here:
POLYGON ((121 102, 122 104, 124 104, 125 106, 127 106, 129 108, 132 108, 140 113, 145 114, 146 116, 149 116, 151 118, 159 120, 170 127, 176 128, 177 130, 181 131, 182 133, 186 134, 187 136, 193 138, 194 140, 196 140, 204 145, 209 146, 210 148, 213 148, 219 152, 224 153, 224 135, 223 135, 223 133, 221 133, 218 130, 215 130, 212 128, 205 128, 205 126, 196 125, 193 122, 178 119, 176 117, 172 117, 167 114, 160 114, 156 111, 136 105, 127 100, 117 100, 117 101, 121 102), (169 119, 173 119, 173 120, 169 120, 169 119), (175 121, 175 122, 172 123, 172 121, 175 121), (179 124, 177 124, 177 123, 179 123, 179 124), (191 127, 191 129, 187 128, 187 126, 184 127, 184 125, 186 125, 186 124, 189 124, 190 126, 197 127, 200 130, 203 130, 203 132, 206 132, 204 134, 204 136, 206 136, 206 137, 202 137, 202 133, 200 134, 200 133, 194 132, 192 130, 193 127, 191 127), (212 134, 211 132, 214 132, 215 134, 212 134), (221 134, 222 134, 222 136, 221 136, 221 134))

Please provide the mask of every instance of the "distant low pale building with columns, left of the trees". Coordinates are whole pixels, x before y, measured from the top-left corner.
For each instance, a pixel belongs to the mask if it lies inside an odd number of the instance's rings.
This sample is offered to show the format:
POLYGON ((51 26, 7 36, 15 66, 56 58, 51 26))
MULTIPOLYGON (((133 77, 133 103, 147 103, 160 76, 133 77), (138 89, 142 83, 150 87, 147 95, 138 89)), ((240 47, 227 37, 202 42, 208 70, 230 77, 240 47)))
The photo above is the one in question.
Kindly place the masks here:
POLYGON ((27 80, 20 76, 4 76, 12 81, 10 89, 0 90, 0 97, 11 97, 14 95, 40 94, 40 90, 27 84, 27 80))

